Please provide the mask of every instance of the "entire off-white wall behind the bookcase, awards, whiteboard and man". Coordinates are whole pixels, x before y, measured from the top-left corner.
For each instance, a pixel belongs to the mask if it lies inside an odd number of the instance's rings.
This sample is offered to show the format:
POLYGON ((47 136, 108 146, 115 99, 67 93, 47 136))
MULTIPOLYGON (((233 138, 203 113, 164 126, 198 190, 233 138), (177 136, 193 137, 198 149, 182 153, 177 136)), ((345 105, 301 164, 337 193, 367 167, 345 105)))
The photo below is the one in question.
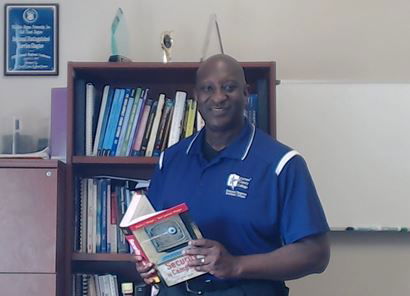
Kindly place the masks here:
MULTIPOLYGON (((8 2, 0 0, 1 6, 8 2)), ((13 115, 23 121, 23 133, 36 139, 47 136, 50 88, 66 85, 67 61, 107 59, 110 25, 118 6, 126 15, 129 56, 134 61, 161 60, 159 37, 164 30, 175 32, 175 61, 198 61, 208 17, 215 12, 225 52, 242 61, 277 61, 279 79, 409 82, 410 2, 406 0, 52 2, 60 4, 60 75, 0 76, 0 141, 11 131, 13 115)), ((3 25, 1 21, 2 39, 3 25)), ((370 234, 351 240, 340 235, 333 239, 329 271, 291 283, 292 295, 408 295, 410 242, 403 234, 397 236, 391 240, 370 234), (386 264, 390 272, 380 272, 386 264)))

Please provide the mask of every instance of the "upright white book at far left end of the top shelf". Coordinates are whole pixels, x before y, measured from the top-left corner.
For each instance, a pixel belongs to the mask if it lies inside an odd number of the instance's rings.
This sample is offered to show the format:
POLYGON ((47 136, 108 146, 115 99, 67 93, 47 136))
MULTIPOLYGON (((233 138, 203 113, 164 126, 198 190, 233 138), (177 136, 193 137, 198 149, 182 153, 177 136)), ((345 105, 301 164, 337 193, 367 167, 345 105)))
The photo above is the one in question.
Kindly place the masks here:
POLYGON ((92 155, 95 86, 88 82, 85 88, 85 155, 92 155))

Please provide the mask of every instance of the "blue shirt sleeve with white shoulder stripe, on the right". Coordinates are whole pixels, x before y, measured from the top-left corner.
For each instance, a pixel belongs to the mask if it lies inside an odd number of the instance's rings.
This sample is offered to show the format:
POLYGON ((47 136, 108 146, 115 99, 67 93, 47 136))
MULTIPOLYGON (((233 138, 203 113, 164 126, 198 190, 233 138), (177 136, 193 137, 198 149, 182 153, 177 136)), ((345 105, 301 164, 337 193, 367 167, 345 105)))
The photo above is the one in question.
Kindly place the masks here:
POLYGON ((296 155, 288 161, 279 176, 281 200, 280 230, 285 244, 329 231, 305 160, 296 155))

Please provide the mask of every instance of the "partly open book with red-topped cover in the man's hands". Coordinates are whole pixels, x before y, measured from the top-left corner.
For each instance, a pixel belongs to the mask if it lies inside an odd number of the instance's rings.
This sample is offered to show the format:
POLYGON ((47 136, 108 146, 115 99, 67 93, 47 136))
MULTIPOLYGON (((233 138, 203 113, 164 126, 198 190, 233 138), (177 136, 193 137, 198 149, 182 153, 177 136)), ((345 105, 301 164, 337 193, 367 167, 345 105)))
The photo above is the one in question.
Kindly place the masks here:
POLYGON ((194 256, 183 254, 190 240, 202 238, 185 203, 156 212, 145 194, 136 192, 120 228, 135 254, 153 263, 158 280, 167 286, 204 273, 188 266, 190 261, 196 260, 194 256))

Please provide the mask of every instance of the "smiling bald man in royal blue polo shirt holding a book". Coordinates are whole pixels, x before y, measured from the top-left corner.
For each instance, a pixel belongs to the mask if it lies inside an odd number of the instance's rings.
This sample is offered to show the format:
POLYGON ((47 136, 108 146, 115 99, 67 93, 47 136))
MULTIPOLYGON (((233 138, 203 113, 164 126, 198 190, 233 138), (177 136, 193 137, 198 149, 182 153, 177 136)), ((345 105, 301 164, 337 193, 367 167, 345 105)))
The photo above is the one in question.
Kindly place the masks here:
MULTIPOLYGON (((201 64, 195 97, 205 127, 164 152, 148 197, 157 210, 188 204, 206 239, 186 253, 208 274, 160 295, 287 295, 283 281, 329 262, 329 228, 306 163, 245 119, 248 88, 232 57, 201 64)), ((136 258, 151 283, 155 267, 136 258)))

